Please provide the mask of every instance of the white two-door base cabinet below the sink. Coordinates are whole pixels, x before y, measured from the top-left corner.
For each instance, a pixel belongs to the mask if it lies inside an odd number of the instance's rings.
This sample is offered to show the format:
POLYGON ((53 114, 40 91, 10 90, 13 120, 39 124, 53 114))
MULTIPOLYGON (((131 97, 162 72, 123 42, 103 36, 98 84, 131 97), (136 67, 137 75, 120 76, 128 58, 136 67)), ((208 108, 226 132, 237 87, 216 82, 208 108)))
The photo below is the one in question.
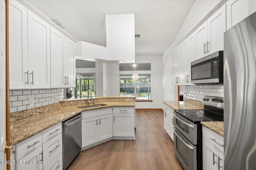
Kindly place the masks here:
POLYGON ((83 111, 82 116, 82 148, 113 136, 111 108, 83 111))

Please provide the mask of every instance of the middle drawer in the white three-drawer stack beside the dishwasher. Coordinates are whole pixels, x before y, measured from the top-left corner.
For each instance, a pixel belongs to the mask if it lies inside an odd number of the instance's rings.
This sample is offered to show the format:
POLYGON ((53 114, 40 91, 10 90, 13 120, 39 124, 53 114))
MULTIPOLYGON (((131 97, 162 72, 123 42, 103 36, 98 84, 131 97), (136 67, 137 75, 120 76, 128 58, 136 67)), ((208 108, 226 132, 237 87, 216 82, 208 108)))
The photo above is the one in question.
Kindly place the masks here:
POLYGON ((47 166, 62 152, 62 133, 43 144, 44 165, 47 166))

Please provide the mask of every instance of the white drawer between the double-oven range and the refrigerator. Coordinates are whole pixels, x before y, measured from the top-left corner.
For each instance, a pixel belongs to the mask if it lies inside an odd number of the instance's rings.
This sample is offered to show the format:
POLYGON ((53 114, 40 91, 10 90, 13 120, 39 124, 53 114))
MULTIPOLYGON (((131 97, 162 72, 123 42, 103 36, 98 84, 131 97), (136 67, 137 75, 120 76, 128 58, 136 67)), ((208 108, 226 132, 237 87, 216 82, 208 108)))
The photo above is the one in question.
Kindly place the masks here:
POLYGON ((215 133, 214 131, 211 131, 210 129, 204 126, 202 126, 202 135, 206 141, 208 141, 214 147, 224 152, 224 147, 220 146, 224 145, 224 137, 220 136, 219 134, 215 133))

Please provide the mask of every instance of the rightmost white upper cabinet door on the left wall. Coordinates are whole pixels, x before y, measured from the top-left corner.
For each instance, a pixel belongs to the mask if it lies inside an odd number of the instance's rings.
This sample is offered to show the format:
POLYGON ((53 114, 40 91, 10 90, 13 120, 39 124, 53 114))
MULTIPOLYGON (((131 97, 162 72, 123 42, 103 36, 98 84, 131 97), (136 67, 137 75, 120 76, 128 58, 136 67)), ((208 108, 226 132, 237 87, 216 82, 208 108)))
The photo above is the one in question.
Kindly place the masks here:
POLYGON ((76 43, 66 37, 65 48, 66 87, 76 87, 76 43))

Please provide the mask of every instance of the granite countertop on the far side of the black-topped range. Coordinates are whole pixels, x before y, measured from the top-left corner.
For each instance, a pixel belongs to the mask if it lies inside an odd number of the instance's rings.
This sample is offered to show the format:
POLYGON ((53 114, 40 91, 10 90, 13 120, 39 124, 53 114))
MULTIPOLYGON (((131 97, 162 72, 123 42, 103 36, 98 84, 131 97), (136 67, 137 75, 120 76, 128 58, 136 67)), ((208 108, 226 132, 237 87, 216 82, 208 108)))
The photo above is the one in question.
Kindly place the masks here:
POLYGON ((163 102, 164 104, 172 107, 173 109, 204 109, 203 106, 191 104, 189 102, 163 102))

